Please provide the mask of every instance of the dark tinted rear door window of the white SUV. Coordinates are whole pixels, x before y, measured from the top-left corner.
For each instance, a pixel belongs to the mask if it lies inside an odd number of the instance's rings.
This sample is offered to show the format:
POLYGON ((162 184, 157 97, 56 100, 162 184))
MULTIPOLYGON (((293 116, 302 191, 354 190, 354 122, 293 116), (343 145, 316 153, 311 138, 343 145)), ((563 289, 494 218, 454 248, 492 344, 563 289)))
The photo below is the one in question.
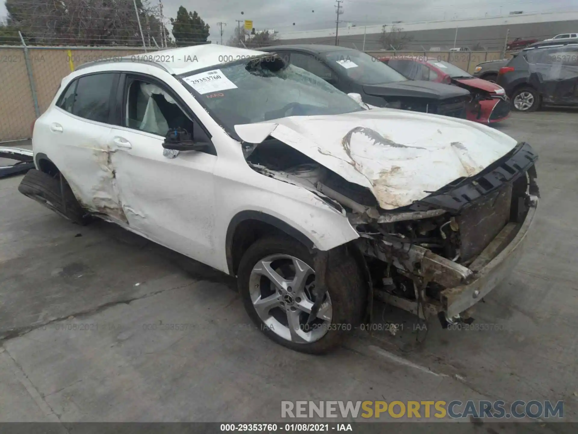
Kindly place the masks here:
POLYGON ((109 123, 110 95, 118 84, 117 73, 98 73, 78 79, 72 114, 84 119, 109 123))

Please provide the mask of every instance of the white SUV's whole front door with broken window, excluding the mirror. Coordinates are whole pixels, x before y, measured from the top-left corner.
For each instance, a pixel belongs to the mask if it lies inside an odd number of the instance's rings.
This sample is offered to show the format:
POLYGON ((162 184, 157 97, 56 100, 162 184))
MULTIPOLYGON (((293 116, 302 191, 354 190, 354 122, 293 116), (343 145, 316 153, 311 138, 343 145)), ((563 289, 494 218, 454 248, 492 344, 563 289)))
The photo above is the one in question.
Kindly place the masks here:
POLYGON ((150 76, 123 76, 117 104, 120 125, 110 131, 109 144, 118 149, 112 164, 129 227, 213 264, 217 155, 208 131, 175 91, 150 76), (166 134, 177 127, 208 144, 206 152, 164 149, 166 134))

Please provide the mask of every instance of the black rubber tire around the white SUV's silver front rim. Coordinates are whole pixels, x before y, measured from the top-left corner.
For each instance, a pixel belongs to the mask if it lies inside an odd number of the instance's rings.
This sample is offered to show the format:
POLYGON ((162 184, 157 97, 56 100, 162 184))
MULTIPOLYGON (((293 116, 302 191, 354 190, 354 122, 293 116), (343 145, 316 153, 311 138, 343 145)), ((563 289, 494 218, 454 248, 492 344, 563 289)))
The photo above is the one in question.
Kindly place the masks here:
POLYGON ((362 271, 345 248, 336 249, 329 255, 326 274, 327 290, 332 303, 331 327, 327 333, 313 343, 295 343, 269 330, 255 311, 249 292, 251 270, 257 262, 277 253, 291 255, 303 260, 313 268, 313 255, 303 244, 292 238, 265 237, 254 242, 244 253, 239 264, 238 286, 247 314, 269 339, 291 350, 308 354, 324 354, 339 345, 347 333, 351 333, 361 322, 367 303, 367 284, 362 271), (335 329, 334 329, 335 328, 335 329))

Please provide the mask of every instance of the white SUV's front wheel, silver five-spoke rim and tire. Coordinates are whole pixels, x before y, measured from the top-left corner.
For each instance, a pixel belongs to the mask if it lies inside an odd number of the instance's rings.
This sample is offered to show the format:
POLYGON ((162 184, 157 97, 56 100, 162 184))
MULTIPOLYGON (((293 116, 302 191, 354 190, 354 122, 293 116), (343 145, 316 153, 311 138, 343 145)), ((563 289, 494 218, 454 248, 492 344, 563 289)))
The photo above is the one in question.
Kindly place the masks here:
POLYGON ((366 285, 352 256, 330 255, 326 280, 317 314, 308 321, 317 301, 316 279, 313 256, 304 245, 288 238, 261 238, 239 264, 239 293, 257 328, 276 343, 310 354, 334 348, 364 314, 366 285))

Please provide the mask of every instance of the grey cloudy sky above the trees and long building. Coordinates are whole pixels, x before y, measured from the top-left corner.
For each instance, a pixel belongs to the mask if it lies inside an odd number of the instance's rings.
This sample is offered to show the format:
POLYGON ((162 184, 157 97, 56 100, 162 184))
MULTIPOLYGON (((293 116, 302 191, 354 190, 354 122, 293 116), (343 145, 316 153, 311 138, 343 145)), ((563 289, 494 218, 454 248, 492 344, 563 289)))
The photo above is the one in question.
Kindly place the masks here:
MULTIPOLYGON (((2 1, 2 0, 0 0, 2 1)), ((158 0, 149 0, 157 3, 158 0)), ((279 32, 314 30, 335 27, 334 0, 163 0, 164 16, 175 17, 183 5, 196 10, 210 25, 212 41, 220 39, 217 23, 223 28, 223 41, 236 31, 235 20, 253 20, 257 30, 274 29, 279 32), (243 14, 242 14, 243 12, 243 14), (293 25, 295 23, 295 25, 293 25)), ((508 14, 512 10, 524 12, 560 12, 578 10, 576 0, 343 0, 340 20, 355 25, 391 23, 391 21, 423 21, 451 18, 473 18, 508 14)), ((6 15, 3 4, 0 16, 6 15)))

